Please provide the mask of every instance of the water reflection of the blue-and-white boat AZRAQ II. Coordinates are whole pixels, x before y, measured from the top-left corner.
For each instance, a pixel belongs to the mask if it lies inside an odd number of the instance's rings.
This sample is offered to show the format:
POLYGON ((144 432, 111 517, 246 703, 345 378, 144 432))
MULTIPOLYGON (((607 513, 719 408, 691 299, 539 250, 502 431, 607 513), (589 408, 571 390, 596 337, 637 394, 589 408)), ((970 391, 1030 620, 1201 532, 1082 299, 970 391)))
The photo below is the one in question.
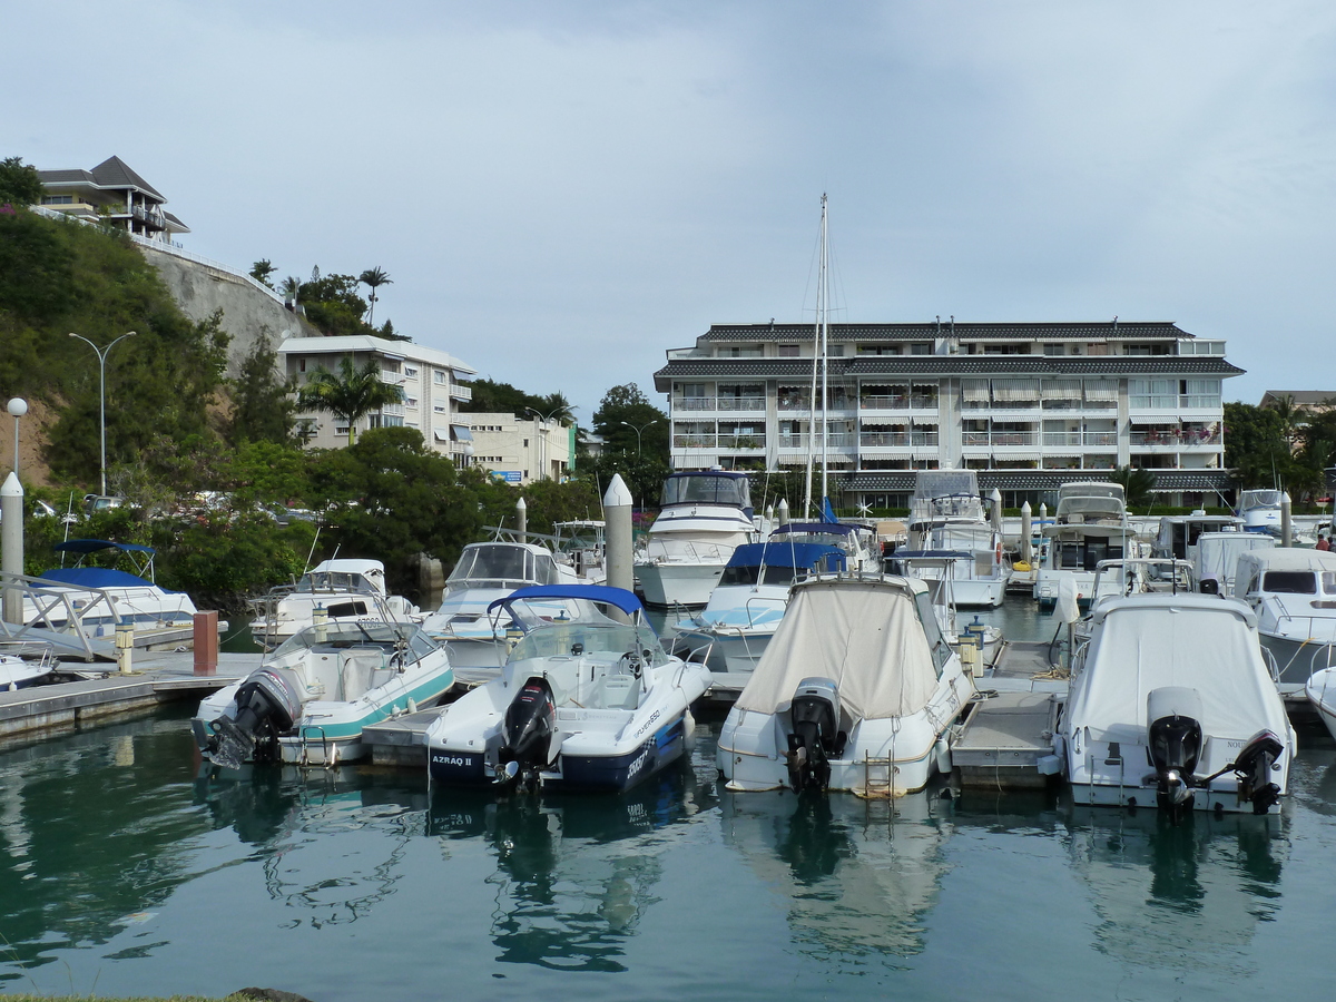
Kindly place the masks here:
POLYGON ((625 971, 627 943, 659 900, 669 827, 713 803, 712 784, 671 767, 623 796, 496 796, 437 788, 428 834, 484 839, 496 856, 490 937, 500 963, 625 971))

